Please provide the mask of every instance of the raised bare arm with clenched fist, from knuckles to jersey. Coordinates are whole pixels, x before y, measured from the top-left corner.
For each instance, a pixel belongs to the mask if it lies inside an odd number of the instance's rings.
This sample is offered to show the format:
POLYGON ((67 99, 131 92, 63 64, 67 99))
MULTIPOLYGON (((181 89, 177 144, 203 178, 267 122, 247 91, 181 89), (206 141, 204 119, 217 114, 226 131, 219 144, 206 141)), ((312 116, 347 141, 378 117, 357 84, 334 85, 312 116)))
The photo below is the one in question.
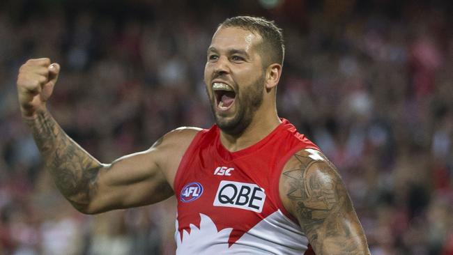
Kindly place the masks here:
POLYGON ((17 91, 22 116, 63 196, 84 213, 144 206, 171 196, 178 162, 197 130, 174 130, 144 152, 101 164, 63 132, 45 107, 58 74, 58 64, 31 59, 20 68, 17 91))

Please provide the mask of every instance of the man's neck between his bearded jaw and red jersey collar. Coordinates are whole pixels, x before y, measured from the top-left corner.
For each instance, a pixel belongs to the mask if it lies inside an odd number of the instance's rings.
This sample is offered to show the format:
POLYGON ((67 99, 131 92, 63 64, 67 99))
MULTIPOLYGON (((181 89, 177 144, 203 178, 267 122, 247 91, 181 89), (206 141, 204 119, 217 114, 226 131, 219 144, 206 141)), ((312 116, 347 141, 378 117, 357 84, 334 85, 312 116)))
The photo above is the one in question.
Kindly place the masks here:
POLYGON ((257 111, 252 122, 245 128, 244 132, 238 135, 231 135, 220 131, 220 141, 231 152, 242 150, 261 141, 261 139, 275 130, 275 127, 280 123, 282 121, 280 121, 275 108, 273 108, 272 112, 260 113, 257 111))

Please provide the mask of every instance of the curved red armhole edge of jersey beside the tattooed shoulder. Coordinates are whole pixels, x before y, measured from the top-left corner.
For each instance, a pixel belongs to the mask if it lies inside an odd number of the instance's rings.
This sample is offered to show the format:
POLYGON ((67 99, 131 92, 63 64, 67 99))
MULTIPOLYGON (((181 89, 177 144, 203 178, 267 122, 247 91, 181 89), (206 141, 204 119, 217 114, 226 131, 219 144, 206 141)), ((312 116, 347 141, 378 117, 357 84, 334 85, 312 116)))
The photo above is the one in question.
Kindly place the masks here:
POLYGON ((286 153, 286 155, 284 155, 284 157, 282 157, 282 159, 279 160, 279 162, 277 163, 277 171, 275 171, 272 174, 272 179, 271 179, 272 180, 272 191, 271 192, 272 192, 272 195, 275 197, 277 207, 282 211, 282 213, 286 217, 288 217, 289 219, 291 219, 291 221, 293 223, 298 224, 298 225, 299 225, 298 219, 296 219, 293 215, 291 215, 291 213, 289 213, 288 210, 286 210, 286 208, 283 206, 282 198, 280 197, 279 183, 280 183, 280 178, 282 176, 282 171, 283 171, 284 165, 286 164, 286 162, 288 162, 289 158, 292 155, 294 155, 294 153, 297 153, 299 150, 304 150, 307 148, 319 150, 318 147, 310 146, 307 144, 304 144, 304 146, 296 146, 292 150, 289 150, 289 152, 286 153))

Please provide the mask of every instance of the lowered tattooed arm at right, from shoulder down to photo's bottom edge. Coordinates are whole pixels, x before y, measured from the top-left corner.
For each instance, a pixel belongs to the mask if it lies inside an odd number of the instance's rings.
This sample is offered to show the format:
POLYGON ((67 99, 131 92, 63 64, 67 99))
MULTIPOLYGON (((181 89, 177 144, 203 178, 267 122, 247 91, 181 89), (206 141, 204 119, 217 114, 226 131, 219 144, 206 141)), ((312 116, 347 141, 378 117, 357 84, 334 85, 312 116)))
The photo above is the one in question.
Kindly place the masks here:
POLYGON ((334 165, 320 152, 295 153, 284 167, 279 190, 316 255, 370 254, 351 198, 334 165))

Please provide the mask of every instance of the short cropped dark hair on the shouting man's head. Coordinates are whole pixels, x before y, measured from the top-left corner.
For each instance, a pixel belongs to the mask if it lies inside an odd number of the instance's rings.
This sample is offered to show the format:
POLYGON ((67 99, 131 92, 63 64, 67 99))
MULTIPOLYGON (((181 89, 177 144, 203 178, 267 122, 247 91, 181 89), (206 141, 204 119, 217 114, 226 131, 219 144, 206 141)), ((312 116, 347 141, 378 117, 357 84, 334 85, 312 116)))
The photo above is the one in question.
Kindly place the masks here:
POLYGON ((217 26, 217 29, 220 29, 221 26, 239 27, 252 33, 259 33, 263 38, 263 52, 267 54, 268 63, 263 61, 263 65, 270 65, 271 63, 283 65, 285 51, 283 29, 280 29, 274 21, 266 20, 263 17, 237 16, 224 20, 217 26))

